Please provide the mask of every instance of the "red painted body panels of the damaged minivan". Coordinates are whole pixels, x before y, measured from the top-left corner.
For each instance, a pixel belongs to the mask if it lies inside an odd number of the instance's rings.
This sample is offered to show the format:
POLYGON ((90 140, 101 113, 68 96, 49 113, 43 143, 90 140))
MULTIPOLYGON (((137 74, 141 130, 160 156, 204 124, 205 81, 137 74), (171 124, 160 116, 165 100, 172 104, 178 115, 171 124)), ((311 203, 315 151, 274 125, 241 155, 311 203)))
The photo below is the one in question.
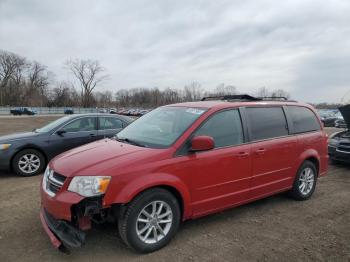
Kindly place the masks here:
MULTIPOLYGON (((150 149, 101 140, 68 151, 50 162, 67 177, 64 188, 51 198, 42 192, 42 205, 57 219, 71 220, 70 207, 83 197, 67 192, 74 176, 111 176, 103 206, 130 202, 157 186, 172 187, 181 196, 183 219, 234 207, 292 187, 303 161, 316 159, 319 175, 328 167, 327 136, 323 131, 248 142, 239 146, 177 155, 192 132, 215 112, 244 106, 309 105, 294 102, 192 102, 172 106, 209 108, 169 148, 150 149)), ((321 123, 321 122, 320 122, 321 123)), ((208 137, 192 140, 194 149, 212 148, 208 137)))

